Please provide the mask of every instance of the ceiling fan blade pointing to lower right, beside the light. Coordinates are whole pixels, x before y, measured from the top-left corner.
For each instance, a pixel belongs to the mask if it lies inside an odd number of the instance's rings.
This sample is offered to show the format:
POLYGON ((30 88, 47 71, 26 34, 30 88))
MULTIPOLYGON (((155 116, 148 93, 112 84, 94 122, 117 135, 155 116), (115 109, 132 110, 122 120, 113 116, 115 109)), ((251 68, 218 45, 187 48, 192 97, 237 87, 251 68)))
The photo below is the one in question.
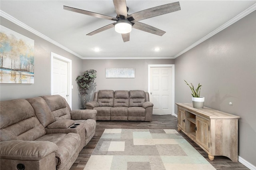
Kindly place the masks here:
POLYGON ((144 24, 142 22, 134 22, 134 25, 132 26, 132 28, 136 28, 136 29, 141 30, 141 31, 149 32, 151 34, 156 34, 158 36, 162 36, 166 33, 163 30, 152 27, 148 24, 144 24))

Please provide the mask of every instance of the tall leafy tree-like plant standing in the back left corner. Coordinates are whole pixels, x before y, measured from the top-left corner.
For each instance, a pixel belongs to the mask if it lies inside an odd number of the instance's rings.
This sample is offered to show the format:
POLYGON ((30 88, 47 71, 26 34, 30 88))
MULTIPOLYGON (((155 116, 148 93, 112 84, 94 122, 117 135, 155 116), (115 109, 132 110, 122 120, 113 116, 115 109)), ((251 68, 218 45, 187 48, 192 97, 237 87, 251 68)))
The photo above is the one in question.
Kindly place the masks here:
POLYGON ((86 95, 88 94, 88 89, 90 87, 90 84, 94 82, 95 78, 97 76, 96 70, 87 70, 82 73, 82 75, 79 75, 76 77, 76 83, 78 85, 78 90, 80 95, 83 97, 84 100, 84 106, 82 109, 86 109, 86 95))

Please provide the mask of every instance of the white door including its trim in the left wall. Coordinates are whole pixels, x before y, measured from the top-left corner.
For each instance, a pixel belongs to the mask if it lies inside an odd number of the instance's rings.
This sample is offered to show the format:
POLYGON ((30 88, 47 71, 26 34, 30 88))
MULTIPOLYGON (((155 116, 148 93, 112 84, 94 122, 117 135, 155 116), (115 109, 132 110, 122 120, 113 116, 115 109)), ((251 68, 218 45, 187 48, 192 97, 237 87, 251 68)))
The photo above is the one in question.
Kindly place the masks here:
POLYGON ((51 53, 51 95, 60 95, 71 107, 71 60, 51 53))

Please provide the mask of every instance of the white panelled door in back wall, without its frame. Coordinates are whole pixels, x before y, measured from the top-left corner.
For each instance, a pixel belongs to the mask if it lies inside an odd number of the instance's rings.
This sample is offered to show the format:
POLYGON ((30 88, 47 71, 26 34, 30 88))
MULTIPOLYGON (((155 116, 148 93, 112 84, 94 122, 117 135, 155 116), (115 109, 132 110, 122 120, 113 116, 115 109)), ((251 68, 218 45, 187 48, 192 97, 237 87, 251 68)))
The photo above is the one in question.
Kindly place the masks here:
POLYGON ((150 68, 150 101, 154 115, 172 114, 172 67, 150 68))

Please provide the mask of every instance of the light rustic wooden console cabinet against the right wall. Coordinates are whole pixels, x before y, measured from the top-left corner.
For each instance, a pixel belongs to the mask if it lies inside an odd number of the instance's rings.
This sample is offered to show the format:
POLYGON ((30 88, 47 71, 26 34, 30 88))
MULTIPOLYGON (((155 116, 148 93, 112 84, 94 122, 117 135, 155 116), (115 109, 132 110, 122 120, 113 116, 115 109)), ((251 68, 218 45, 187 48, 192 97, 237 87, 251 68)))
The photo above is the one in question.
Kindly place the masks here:
POLYGON ((214 156, 227 156, 238 161, 238 119, 208 107, 195 109, 192 103, 176 103, 178 106, 178 130, 182 130, 198 146, 214 156))

